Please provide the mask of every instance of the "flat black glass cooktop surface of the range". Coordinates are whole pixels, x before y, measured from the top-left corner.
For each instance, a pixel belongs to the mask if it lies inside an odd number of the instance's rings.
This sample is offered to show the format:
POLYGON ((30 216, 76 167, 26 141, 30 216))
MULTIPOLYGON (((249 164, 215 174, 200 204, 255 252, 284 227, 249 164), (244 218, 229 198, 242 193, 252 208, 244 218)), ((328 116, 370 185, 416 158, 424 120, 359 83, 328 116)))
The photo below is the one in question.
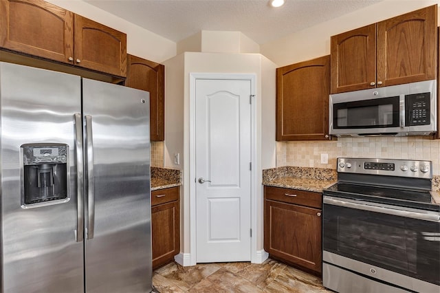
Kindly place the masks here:
POLYGON ((338 182, 325 189, 323 194, 349 199, 362 199, 367 202, 440 211, 440 205, 432 204, 431 195, 427 191, 409 191, 397 188, 338 182))

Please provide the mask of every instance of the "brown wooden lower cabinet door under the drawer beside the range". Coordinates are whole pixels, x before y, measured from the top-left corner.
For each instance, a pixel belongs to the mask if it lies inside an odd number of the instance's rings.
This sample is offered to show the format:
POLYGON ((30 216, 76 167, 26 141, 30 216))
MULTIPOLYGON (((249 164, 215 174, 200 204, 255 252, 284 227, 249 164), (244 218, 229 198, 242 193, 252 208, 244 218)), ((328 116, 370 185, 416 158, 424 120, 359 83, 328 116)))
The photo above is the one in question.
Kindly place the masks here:
POLYGON ((321 210, 265 200, 264 249, 276 258, 322 271, 321 210))

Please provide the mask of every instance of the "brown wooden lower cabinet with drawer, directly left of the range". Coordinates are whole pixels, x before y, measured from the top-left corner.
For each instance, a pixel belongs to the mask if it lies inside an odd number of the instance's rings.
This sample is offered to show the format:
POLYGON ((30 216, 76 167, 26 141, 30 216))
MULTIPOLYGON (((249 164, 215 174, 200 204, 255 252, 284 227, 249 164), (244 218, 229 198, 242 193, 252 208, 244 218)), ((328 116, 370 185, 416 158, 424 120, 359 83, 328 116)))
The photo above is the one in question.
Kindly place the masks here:
POLYGON ((264 187, 264 249, 274 259, 322 272, 322 194, 264 187))

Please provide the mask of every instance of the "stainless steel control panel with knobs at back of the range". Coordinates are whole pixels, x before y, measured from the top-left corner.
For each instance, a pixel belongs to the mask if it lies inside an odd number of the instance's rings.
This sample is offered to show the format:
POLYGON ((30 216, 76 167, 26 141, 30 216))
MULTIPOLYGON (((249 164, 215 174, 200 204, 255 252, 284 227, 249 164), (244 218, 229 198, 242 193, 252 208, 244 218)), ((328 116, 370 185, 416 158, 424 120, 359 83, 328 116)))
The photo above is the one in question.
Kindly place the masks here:
POLYGON ((368 158, 338 158, 338 172, 432 179, 432 162, 368 158))

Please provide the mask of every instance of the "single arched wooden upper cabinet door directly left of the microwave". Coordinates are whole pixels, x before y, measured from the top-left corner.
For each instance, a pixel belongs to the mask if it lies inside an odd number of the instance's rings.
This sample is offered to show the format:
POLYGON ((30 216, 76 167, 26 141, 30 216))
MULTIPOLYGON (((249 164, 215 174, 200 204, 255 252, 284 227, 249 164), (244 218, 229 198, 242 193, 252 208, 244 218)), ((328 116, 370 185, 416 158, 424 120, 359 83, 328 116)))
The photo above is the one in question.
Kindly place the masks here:
POLYGON ((328 140, 330 56, 276 69, 276 140, 328 140))

